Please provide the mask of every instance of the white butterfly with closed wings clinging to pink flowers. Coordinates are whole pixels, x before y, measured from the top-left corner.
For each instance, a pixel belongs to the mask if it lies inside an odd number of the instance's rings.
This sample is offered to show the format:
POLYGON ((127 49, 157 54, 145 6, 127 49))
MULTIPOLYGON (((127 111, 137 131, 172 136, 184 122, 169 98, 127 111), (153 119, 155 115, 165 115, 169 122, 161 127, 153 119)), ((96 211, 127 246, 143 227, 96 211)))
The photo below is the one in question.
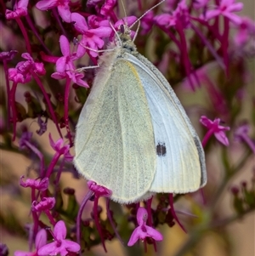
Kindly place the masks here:
POLYGON ((166 78, 129 35, 124 26, 121 41, 99 57, 77 123, 75 166, 116 202, 196 191, 207 182, 200 139, 166 78))

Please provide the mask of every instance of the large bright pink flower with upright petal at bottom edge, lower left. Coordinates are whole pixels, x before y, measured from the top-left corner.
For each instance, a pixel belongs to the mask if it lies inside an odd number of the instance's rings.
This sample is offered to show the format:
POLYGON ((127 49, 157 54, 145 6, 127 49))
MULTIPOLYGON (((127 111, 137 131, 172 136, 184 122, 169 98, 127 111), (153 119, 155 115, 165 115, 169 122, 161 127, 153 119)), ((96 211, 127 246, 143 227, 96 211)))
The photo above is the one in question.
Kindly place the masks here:
POLYGON ((59 253, 61 256, 65 256, 70 252, 79 252, 81 249, 80 245, 78 245, 77 242, 65 240, 65 236, 65 223, 64 221, 59 220, 57 224, 54 226, 54 242, 42 246, 38 250, 38 255, 57 255, 59 253))

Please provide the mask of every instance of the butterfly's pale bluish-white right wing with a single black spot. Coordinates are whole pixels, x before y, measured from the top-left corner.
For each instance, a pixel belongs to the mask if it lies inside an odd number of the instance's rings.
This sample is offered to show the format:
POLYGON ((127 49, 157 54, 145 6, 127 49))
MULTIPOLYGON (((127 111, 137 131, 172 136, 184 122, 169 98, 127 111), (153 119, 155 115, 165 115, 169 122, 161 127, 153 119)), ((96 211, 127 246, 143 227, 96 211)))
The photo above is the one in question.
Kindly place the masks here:
POLYGON ((207 182, 200 139, 176 94, 160 71, 142 55, 126 53, 139 74, 150 107, 156 146, 151 192, 185 193, 207 182))

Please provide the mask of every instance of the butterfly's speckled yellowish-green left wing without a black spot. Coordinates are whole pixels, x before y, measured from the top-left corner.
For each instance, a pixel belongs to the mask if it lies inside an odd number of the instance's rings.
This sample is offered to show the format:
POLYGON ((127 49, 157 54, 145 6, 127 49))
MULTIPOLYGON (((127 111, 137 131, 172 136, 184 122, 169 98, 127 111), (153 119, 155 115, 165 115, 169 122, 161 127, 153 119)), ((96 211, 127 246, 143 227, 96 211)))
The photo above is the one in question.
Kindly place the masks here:
POLYGON ((150 109, 139 74, 127 60, 99 68, 75 145, 79 173, 111 189, 114 201, 139 201, 150 190, 156 172, 150 109))

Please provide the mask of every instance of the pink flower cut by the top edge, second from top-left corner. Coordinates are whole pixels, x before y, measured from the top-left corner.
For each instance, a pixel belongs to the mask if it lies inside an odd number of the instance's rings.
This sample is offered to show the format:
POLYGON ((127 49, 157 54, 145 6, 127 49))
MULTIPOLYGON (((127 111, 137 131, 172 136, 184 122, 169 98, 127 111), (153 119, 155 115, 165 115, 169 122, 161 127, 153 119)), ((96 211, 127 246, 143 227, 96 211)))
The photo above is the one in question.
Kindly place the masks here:
POLYGON ((71 22, 70 0, 42 0, 36 4, 37 9, 47 11, 48 9, 58 8, 59 16, 67 23, 71 22))

